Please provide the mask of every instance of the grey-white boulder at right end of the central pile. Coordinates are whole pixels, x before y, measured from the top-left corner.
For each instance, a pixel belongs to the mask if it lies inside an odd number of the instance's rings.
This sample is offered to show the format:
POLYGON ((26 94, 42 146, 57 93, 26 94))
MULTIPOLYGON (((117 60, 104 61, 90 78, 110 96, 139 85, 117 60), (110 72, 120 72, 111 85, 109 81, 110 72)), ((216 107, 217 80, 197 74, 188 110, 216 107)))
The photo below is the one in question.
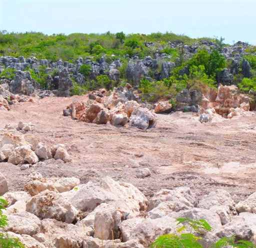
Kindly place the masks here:
POLYGON ((129 125, 143 130, 152 128, 156 125, 156 116, 147 108, 139 107, 132 111, 129 125))

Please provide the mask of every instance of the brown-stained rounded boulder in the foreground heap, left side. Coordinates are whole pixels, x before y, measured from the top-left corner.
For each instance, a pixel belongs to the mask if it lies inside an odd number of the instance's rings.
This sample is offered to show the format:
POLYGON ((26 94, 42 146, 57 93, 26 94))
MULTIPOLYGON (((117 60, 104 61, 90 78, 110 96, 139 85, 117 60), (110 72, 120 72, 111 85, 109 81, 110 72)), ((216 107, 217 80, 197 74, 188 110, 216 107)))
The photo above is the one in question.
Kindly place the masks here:
POLYGON ((77 210, 60 194, 45 190, 33 196, 26 203, 26 211, 40 219, 55 219, 72 223, 76 219, 77 210))

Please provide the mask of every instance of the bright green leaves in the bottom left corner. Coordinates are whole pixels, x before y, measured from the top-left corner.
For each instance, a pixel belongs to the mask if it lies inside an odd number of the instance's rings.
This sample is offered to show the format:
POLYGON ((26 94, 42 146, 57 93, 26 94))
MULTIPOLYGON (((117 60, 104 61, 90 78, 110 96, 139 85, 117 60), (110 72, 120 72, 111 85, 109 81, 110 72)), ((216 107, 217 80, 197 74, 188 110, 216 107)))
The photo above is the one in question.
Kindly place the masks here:
POLYGON ((7 202, 0 198, 0 248, 24 248, 18 239, 10 238, 1 230, 8 224, 7 217, 2 213, 5 206, 7 206, 7 202))

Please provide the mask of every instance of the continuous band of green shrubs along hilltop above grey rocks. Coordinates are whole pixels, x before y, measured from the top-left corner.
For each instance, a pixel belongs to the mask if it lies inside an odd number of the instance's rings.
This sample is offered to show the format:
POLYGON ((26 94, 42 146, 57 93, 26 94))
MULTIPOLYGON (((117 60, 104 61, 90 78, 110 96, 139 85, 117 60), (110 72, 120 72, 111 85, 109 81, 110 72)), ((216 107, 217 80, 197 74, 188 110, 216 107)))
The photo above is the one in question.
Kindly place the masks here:
MULTIPOLYGON (((40 32, 6 33, 0 32, 0 55, 14 57, 35 56, 37 59, 56 61, 74 61, 78 57, 106 56, 114 54, 117 57, 137 55, 139 57, 153 55, 144 42, 154 42, 156 46, 167 45, 168 41, 180 40, 184 44, 192 44, 198 39, 171 32, 145 34, 128 34, 123 32, 103 34, 72 33, 69 35, 45 35, 40 32)), ((210 40, 210 39, 208 39, 210 40)))

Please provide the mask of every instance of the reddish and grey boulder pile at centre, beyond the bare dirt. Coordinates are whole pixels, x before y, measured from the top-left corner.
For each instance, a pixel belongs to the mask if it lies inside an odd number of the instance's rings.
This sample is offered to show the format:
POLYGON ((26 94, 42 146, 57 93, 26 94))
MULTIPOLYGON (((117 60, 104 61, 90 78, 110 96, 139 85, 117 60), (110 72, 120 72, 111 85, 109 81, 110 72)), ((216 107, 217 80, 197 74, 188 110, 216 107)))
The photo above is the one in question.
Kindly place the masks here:
POLYGON ((155 127, 156 115, 139 104, 131 86, 114 88, 108 96, 105 89, 91 92, 88 101, 73 102, 63 110, 63 115, 87 123, 107 124, 147 129, 155 127))

